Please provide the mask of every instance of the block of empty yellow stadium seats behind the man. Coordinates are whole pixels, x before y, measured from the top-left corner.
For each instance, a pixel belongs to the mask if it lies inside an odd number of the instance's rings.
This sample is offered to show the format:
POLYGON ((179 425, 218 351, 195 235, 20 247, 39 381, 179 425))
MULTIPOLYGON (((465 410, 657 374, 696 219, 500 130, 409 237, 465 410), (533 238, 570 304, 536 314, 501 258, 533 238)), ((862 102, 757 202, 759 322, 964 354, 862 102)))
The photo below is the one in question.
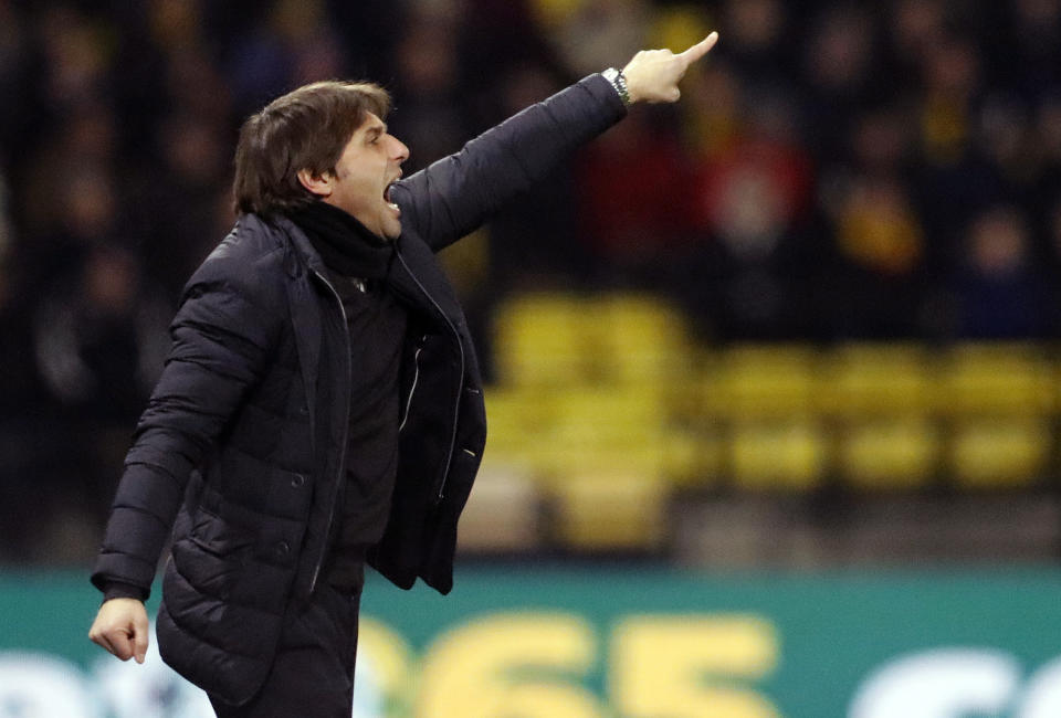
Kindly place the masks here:
POLYGON ((656 547, 681 487, 977 490, 1057 478, 1061 360, 1047 346, 697 346, 654 297, 537 294, 505 304, 494 348, 466 541, 656 547), (528 509, 519 520, 514 504, 528 509))

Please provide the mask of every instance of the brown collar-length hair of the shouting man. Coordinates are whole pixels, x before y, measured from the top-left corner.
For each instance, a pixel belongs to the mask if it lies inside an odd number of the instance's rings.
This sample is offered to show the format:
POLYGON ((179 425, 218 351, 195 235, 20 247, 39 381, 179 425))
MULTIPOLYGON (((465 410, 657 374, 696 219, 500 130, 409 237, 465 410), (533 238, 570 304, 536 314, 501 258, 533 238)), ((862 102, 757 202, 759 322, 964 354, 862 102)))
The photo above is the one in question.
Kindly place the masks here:
POLYGON ((277 97, 240 129, 232 194, 235 212, 286 212, 314 201, 298 170, 335 165, 367 113, 385 118, 390 95, 366 82, 326 81, 277 97))

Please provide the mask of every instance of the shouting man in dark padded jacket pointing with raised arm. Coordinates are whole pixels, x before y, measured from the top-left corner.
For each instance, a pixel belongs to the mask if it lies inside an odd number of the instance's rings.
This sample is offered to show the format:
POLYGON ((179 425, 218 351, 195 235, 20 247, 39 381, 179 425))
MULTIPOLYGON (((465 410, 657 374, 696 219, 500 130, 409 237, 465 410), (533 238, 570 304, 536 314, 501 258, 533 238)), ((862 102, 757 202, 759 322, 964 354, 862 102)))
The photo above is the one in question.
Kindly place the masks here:
POLYGON ((712 33, 639 52, 402 179, 390 98, 323 82, 235 150, 235 228, 185 288, 92 576, 90 637, 162 658, 222 717, 351 712, 366 563, 453 583, 486 440, 475 351, 435 253, 639 102, 675 102, 712 33))

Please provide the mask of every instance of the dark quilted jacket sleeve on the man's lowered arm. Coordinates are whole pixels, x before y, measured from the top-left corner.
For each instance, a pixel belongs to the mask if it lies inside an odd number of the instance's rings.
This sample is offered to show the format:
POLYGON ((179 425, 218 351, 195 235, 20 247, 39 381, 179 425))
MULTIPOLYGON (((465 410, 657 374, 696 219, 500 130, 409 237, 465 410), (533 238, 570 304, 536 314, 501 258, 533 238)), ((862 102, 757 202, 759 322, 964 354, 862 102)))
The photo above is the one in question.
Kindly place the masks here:
POLYGON ((274 346, 283 317, 276 282, 261 260, 249 263, 229 249, 222 243, 192 276, 170 326, 172 348, 126 455, 92 574, 101 590, 112 582, 150 590, 191 471, 274 346))

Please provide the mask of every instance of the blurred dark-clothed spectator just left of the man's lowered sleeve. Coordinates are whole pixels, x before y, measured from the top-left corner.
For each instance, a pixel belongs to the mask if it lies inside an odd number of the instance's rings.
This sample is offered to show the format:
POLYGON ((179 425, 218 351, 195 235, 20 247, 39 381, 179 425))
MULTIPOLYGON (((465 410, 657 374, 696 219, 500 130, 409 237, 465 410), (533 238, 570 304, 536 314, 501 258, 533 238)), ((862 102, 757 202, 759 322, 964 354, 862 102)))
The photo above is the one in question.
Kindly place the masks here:
POLYGON ((32 339, 45 399, 55 408, 48 451, 57 501, 50 507, 42 497, 43 510, 78 507, 102 527, 132 429, 169 347, 169 314, 136 256, 102 244, 41 300, 32 339))

